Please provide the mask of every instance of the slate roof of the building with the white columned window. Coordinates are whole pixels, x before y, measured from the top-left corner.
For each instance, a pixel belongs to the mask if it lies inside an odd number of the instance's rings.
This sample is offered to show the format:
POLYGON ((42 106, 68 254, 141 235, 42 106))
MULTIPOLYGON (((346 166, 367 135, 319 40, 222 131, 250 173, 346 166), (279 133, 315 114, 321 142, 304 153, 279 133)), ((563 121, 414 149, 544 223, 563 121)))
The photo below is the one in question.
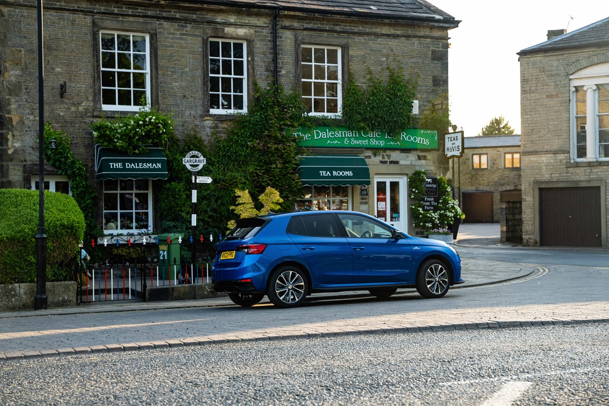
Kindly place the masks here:
POLYGON ((573 32, 559 35, 541 44, 525 48, 518 52, 518 55, 598 45, 609 46, 609 17, 573 32))

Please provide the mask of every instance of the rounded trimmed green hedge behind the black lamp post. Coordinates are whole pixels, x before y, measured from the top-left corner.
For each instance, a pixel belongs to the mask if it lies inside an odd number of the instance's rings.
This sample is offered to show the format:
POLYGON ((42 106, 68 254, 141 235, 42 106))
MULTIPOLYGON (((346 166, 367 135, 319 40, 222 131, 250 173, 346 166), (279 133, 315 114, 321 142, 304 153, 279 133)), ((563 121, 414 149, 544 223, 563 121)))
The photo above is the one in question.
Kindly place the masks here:
MULTIPOLYGON (((66 194, 44 192, 47 281, 72 278, 85 217, 66 194)), ((36 281, 38 191, 0 189, 0 284, 36 281)))

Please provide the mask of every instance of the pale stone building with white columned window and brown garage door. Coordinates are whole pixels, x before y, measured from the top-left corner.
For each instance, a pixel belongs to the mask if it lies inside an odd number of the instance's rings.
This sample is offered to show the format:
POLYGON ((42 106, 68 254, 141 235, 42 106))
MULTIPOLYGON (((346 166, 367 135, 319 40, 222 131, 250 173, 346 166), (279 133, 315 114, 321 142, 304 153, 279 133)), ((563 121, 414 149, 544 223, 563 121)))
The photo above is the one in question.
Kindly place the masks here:
POLYGON ((518 55, 523 243, 606 247, 609 18, 518 55))

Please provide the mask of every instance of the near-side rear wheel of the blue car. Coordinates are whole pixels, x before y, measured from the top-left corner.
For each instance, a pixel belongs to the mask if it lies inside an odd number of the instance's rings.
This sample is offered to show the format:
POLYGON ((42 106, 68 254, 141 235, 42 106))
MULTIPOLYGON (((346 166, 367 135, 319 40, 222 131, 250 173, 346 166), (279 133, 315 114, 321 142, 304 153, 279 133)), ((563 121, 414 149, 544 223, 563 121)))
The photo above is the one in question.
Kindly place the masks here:
POLYGON ((296 307, 303 303, 308 292, 309 281, 300 268, 285 265, 270 275, 267 296, 276 307, 296 307))

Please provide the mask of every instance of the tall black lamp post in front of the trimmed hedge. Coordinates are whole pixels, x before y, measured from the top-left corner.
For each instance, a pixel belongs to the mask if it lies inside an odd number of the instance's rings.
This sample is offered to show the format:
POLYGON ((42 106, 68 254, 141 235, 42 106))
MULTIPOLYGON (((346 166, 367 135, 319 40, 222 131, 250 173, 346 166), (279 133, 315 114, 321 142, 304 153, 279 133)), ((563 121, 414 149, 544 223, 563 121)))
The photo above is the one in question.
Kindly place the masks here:
POLYGON ((38 20, 38 234, 36 296, 34 310, 47 308, 46 296, 46 234, 44 234, 44 61, 42 0, 37 0, 38 20))

